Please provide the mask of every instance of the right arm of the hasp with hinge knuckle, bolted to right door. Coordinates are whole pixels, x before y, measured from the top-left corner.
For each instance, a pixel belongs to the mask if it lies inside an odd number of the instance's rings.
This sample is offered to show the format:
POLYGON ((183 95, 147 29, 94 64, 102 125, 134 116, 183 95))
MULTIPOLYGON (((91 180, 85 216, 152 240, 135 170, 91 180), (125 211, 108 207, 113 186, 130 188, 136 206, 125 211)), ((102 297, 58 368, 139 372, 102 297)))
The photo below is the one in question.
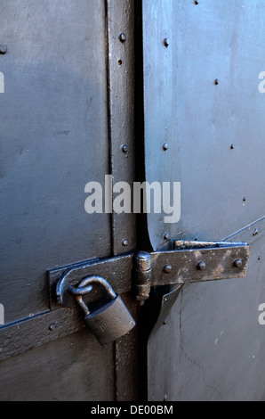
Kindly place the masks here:
POLYGON ((243 242, 174 241, 170 251, 139 252, 133 258, 137 300, 148 300, 151 286, 244 277, 249 255, 243 242))

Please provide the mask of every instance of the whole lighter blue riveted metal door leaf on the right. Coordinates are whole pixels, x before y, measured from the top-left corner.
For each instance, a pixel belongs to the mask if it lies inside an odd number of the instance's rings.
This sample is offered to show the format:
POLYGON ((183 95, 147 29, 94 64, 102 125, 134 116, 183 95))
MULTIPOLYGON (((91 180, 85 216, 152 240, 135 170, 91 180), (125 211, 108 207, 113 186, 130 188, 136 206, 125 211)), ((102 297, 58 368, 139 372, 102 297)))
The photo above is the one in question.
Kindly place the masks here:
POLYGON ((143 0, 146 177, 181 182, 181 221, 150 214, 152 247, 252 245, 245 279, 185 285, 159 319, 149 400, 265 399, 264 13, 261 0, 143 0))

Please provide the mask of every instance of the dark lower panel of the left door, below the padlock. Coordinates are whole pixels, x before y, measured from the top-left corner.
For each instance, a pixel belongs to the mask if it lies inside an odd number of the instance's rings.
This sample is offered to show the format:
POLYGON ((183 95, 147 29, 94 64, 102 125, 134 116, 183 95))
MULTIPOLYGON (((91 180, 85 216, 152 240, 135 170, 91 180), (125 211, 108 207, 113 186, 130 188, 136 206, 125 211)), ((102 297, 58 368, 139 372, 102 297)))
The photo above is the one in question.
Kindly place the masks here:
POLYGON ((113 401, 113 359, 89 331, 67 336, 2 362, 1 399, 113 401))

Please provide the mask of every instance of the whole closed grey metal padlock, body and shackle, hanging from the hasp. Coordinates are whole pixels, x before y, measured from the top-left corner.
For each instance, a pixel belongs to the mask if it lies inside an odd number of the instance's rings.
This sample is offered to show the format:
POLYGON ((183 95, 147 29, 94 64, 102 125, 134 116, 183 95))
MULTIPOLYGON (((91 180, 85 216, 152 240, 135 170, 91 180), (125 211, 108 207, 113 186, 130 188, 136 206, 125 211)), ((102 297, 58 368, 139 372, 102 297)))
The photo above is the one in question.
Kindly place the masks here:
POLYGON ((113 291, 109 283, 100 276, 89 276, 79 283, 77 288, 70 287, 68 291, 76 296, 76 302, 85 315, 84 321, 101 346, 116 341, 135 326, 124 302, 113 291), (91 312, 84 303, 83 296, 92 291, 92 284, 100 284, 110 300, 91 312))

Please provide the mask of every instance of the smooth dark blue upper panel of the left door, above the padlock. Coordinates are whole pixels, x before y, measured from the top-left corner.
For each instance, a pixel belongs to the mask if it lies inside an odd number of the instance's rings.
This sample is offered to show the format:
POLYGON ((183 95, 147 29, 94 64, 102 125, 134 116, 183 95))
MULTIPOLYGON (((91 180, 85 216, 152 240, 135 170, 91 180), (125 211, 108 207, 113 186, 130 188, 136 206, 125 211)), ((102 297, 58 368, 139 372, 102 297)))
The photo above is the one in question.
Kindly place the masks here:
POLYGON ((10 323, 48 308, 47 269, 110 253, 109 216, 84 211, 84 186, 108 173, 105 6, 4 0, 0 21, 0 295, 10 323))

